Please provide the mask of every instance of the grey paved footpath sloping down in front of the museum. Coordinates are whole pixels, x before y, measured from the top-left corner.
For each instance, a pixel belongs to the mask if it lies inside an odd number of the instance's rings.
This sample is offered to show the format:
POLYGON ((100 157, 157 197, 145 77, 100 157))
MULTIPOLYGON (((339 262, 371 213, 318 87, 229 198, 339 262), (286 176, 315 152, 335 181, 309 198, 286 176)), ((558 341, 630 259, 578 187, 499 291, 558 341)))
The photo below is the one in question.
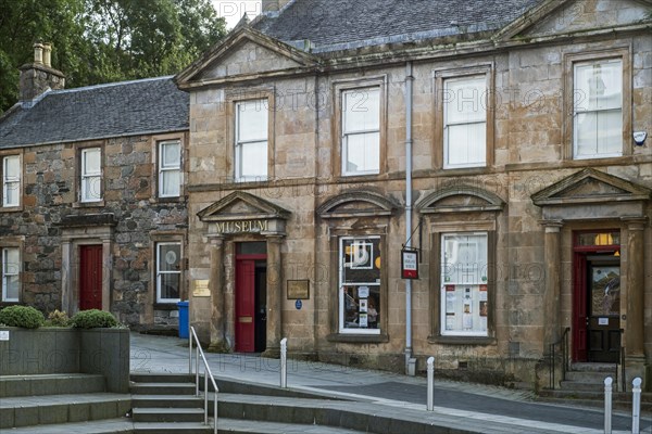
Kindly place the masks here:
MULTIPOLYGON (((241 354, 209 354, 216 378, 278 385, 279 360, 241 354)), ((187 340, 131 333, 131 372, 188 372, 187 340)), ((350 397, 426 412, 426 379, 322 362, 288 360, 288 387, 350 397)), ((534 394, 503 387, 453 381, 435 381, 435 412, 543 429, 550 433, 603 433, 600 410, 534 401, 534 394)), ((614 433, 631 433, 631 416, 615 412, 614 433)), ((652 434, 652 416, 641 418, 641 433, 652 434)))

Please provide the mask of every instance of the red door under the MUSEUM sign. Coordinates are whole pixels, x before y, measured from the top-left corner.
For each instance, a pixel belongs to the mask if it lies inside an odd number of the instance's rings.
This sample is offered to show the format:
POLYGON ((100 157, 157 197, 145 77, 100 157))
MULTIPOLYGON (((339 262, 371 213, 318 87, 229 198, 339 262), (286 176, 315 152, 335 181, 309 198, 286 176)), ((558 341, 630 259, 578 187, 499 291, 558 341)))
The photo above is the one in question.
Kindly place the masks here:
POLYGON ((236 352, 255 350, 255 260, 236 260, 236 352))

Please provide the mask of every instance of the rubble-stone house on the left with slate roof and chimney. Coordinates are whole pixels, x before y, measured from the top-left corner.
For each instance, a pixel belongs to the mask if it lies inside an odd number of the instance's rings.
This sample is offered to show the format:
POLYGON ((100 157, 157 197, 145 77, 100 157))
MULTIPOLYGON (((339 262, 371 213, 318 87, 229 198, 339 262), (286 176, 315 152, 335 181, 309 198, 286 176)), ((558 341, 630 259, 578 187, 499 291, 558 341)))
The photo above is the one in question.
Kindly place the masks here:
POLYGON ((0 117, 0 307, 176 329, 186 297, 188 94, 172 77, 65 90, 50 47, 0 117))

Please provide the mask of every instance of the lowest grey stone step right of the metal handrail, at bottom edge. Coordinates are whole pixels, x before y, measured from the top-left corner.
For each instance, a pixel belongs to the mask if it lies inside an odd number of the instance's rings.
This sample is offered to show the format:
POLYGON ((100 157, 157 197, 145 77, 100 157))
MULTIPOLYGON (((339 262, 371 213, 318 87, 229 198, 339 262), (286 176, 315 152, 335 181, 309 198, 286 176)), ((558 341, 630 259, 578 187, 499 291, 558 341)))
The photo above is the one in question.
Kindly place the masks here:
POLYGON ((343 427, 322 426, 314 424, 298 424, 283 422, 261 422, 241 419, 217 420, 217 432, 247 434, 362 434, 365 431, 354 431, 343 427))

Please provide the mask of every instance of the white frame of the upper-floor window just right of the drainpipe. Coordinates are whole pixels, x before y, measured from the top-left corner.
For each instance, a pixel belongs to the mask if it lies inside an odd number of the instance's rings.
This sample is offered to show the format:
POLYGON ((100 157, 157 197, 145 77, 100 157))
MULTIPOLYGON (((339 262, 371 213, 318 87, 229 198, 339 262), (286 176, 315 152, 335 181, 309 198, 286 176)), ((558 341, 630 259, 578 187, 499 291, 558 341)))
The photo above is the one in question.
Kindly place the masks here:
POLYGON ((487 104, 488 104, 488 88, 487 88, 487 75, 486 74, 477 74, 477 75, 468 75, 462 77, 448 77, 443 79, 443 168, 444 169, 453 169, 453 168, 466 168, 466 167, 485 167, 487 166, 487 104), (472 98, 467 98, 464 94, 451 94, 449 91, 449 86, 451 82, 455 81, 476 81, 481 79, 485 82, 485 91, 481 94, 474 94, 472 98), (465 104, 472 103, 474 106, 477 104, 478 112, 482 111, 485 116, 482 120, 457 120, 457 122, 449 122, 449 107, 451 104, 456 105, 457 107, 464 106, 465 104), (484 125, 484 133, 481 135, 482 140, 485 142, 484 154, 481 155, 481 159, 467 162, 467 163, 459 163, 451 164, 449 163, 450 156, 450 146, 452 143, 450 142, 450 127, 467 127, 471 125, 484 125))

